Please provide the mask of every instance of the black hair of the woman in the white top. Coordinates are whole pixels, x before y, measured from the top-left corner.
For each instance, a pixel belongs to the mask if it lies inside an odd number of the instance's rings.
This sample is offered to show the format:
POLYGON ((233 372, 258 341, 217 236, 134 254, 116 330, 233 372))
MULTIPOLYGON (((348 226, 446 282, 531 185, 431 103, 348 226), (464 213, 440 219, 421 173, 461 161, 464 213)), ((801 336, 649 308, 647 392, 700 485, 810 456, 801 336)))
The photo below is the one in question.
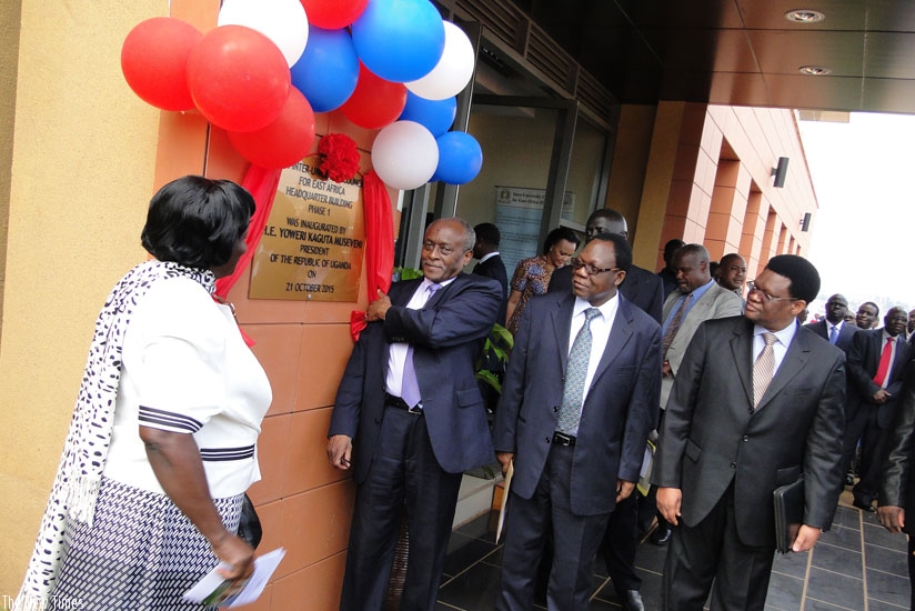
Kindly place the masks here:
POLYGON ((253 213, 254 198, 241 186, 187 176, 152 197, 140 240, 160 261, 209 270, 232 258, 253 213))

